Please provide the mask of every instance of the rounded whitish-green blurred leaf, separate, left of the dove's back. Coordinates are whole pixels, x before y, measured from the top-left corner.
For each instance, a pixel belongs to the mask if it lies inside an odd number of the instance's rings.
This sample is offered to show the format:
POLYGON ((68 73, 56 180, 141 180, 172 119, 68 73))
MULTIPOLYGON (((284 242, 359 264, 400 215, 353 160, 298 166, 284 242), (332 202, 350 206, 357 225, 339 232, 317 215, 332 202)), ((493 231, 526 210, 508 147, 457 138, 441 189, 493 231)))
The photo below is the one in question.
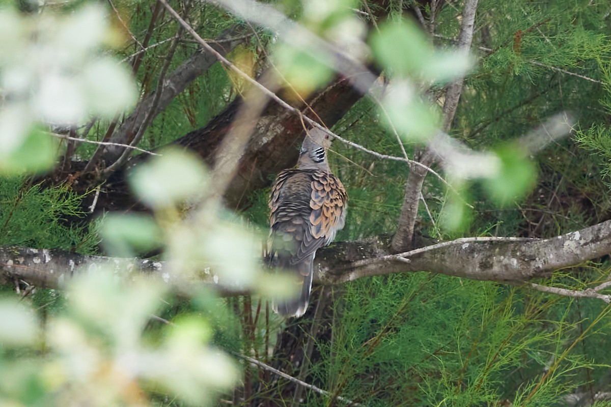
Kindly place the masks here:
POLYGON ((139 165, 130 176, 136 194, 148 205, 159 209, 206 190, 206 168, 193 153, 165 149, 163 156, 139 165))

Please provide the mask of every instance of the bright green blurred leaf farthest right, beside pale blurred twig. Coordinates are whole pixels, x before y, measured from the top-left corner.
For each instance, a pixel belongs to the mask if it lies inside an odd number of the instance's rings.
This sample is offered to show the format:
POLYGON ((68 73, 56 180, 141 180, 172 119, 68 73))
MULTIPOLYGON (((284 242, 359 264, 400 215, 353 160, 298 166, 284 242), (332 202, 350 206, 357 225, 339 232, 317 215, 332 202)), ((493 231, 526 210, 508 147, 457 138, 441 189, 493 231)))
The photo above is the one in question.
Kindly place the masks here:
POLYGON ((535 164, 516 145, 505 145, 496 149, 501 166, 496 176, 484 179, 483 185, 492 200, 499 206, 510 204, 532 190, 536 180, 535 164))

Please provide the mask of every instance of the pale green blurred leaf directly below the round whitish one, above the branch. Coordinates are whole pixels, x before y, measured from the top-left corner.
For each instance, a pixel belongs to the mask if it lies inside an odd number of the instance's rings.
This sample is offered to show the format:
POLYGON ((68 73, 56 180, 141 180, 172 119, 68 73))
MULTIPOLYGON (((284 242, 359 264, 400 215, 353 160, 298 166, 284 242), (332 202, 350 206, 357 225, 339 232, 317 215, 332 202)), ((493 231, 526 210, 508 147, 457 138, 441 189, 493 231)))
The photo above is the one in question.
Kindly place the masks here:
POLYGON ((159 248, 163 241, 155 220, 143 214, 106 215, 100 234, 108 253, 125 258, 159 248))

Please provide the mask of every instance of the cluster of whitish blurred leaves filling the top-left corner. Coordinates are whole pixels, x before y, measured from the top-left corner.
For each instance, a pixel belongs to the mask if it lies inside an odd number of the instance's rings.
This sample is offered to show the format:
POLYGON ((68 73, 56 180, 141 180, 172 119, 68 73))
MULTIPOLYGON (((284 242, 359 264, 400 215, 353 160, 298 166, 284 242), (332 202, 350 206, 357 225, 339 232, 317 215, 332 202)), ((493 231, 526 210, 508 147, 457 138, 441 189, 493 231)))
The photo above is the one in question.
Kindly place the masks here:
MULTIPOLYGON (((0 117, 2 138, 23 136, 34 123, 76 124, 88 115, 112 117, 134 103, 130 74, 102 54, 111 37, 103 5, 85 4, 61 15, 0 10, 0 115, 24 106, 24 126, 0 117)), ((0 144, 6 144, 0 140, 0 144)), ((1 152, 0 152, 1 155, 1 152)))

